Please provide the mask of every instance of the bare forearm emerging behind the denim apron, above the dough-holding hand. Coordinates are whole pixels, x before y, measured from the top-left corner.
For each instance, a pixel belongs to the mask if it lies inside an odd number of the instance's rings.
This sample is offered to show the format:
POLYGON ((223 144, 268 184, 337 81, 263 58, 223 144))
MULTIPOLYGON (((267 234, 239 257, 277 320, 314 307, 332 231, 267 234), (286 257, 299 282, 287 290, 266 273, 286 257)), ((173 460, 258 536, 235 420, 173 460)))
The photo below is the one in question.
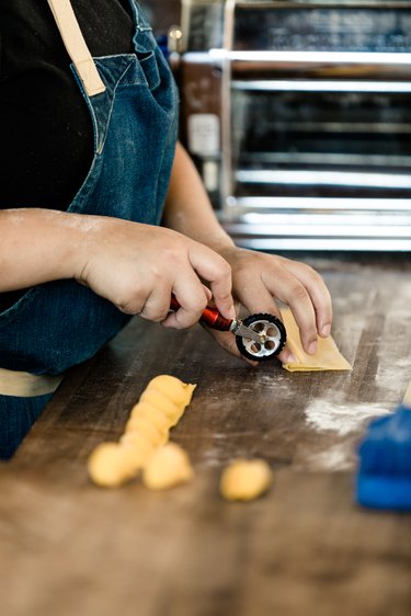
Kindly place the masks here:
POLYGON ((217 252, 233 246, 213 210, 193 161, 180 144, 175 151, 163 223, 217 252))

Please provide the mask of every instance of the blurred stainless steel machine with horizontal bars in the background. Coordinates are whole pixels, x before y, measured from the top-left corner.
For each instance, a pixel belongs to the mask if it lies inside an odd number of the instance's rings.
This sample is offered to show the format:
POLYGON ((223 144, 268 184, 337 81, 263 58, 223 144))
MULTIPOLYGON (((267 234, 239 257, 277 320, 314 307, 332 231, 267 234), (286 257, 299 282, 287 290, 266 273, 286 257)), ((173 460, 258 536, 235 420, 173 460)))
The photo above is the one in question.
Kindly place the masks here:
POLYGON ((411 250, 411 2, 183 0, 182 139, 264 250, 411 250))

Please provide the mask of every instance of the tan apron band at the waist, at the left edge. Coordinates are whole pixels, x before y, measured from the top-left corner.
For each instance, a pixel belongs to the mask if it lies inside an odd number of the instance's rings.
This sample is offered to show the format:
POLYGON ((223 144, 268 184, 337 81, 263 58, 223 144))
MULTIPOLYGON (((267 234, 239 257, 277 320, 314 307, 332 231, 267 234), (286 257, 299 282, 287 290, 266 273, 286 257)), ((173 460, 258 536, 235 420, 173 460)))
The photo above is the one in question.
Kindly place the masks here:
POLYGON ((53 393, 62 378, 64 375, 43 376, 0 368, 0 395, 32 398, 53 393))

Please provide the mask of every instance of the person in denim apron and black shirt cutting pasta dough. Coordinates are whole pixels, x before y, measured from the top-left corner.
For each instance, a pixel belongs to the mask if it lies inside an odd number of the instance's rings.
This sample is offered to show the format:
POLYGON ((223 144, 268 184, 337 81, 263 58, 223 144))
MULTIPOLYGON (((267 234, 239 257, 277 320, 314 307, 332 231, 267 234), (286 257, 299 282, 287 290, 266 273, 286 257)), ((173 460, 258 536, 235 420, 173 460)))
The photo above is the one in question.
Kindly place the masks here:
MULTIPOLYGON (((227 318, 279 316, 279 299, 313 353, 331 328, 327 286, 237 248, 218 223, 137 0, 13 0, 0 24, 0 457, 133 315, 184 329, 210 299, 227 318)), ((239 355, 232 334, 213 335, 239 355)))

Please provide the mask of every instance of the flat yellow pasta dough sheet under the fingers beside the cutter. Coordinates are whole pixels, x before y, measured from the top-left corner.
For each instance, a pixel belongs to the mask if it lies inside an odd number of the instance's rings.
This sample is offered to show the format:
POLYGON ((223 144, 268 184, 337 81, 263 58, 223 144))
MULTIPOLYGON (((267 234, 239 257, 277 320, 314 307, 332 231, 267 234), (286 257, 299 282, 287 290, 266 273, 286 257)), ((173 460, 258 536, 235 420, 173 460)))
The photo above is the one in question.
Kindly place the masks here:
POLYGON ((289 308, 282 310, 285 329, 287 330, 287 346, 298 360, 298 363, 283 364, 289 372, 313 370, 351 370, 351 364, 343 357, 331 335, 318 339, 317 353, 305 353, 299 339, 298 326, 289 308))

